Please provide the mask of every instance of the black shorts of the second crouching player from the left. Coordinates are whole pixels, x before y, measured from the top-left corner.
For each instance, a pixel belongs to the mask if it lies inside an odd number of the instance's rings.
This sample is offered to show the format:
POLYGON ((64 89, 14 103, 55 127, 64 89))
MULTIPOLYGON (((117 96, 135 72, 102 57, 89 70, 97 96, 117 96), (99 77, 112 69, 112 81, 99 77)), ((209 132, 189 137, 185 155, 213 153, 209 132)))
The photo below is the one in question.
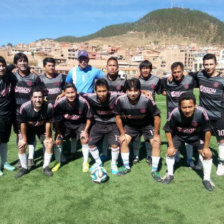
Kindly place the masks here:
POLYGON ((70 138, 80 139, 81 132, 85 129, 86 124, 81 123, 78 125, 73 125, 72 128, 61 124, 61 133, 65 140, 70 138))

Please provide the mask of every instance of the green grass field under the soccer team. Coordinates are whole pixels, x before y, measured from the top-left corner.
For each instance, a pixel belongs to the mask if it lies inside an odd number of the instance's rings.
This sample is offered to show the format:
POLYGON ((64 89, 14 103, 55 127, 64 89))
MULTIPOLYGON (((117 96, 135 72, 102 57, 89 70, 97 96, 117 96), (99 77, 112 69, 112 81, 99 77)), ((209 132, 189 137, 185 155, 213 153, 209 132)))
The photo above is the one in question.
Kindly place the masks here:
MULTIPOLYGON (((165 97, 157 97, 162 111, 162 126, 166 120, 165 97)), ((165 142, 161 130, 162 141, 165 142)), ((91 182, 89 173, 82 173, 81 152, 78 159, 63 166, 53 177, 42 174, 41 145, 36 157, 39 168, 20 179, 15 172, 5 172, 0 178, 0 224, 63 224, 63 223, 223 223, 224 177, 215 174, 217 144, 212 138, 214 165, 213 192, 204 189, 201 173, 182 166, 175 171, 170 185, 156 183, 151 168, 143 158, 122 177, 110 174, 110 161, 105 167, 109 181, 91 182)), ((166 144, 162 144, 161 176, 165 174, 166 144)), ((9 162, 17 161, 15 135, 9 142, 9 162)))

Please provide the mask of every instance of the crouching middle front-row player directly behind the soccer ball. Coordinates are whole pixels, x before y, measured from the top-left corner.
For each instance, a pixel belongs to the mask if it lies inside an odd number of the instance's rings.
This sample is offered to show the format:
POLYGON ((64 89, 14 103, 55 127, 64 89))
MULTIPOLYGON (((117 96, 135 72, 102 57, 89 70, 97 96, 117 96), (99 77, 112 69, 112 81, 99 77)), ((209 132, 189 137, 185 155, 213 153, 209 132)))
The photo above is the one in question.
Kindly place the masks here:
POLYGON ((115 123, 114 106, 119 93, 109 92, 108 83, 105 79, 98 79, 95 83, 95 93, 86 94, 94 115, 94 124, 90 130, 89 149, 95 159, 95 164, 91 169, 102 166, 99 157, 97 143, 108 135, 108 143, 111 146, 111 170, 112 174, 118 175, 117 160, 119 156, 119 131, 115 123))

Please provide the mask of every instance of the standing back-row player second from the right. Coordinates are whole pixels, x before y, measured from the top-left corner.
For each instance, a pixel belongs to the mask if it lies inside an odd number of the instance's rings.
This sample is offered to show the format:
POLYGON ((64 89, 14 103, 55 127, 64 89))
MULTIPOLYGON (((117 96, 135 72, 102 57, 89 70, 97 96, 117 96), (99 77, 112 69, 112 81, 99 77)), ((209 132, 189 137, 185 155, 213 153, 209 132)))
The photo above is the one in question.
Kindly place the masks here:
MULTIPOLYGON (((171 65, 172 71, 172 81, 169 79, 162 79, 161 81, 161 92, 166 96, 167 105, 167 117, 172 112, 174 108, 178 106, 178 100, 182 93, 191 92, 195 86, 195 81, 191 76, 184 75, 184 65, 182 62, 174 62, 171 65)), ((193 148, 191 145, 185 144, 187 153, 187 164, 191 168, 195 168, 194 162, 192 160, 193 148)), ((177 160, 179 155, 177 155, 177 160)))

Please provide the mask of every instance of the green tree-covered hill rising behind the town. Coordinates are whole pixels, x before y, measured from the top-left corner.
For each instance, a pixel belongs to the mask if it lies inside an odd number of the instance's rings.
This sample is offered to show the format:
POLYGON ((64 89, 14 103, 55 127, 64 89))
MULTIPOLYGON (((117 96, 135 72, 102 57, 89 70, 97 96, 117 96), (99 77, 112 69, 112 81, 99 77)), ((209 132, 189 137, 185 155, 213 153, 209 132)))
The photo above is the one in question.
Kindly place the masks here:
POLYGON ((146 36, 183 37, 199 43, 224 44, 224 23, 198 10, 172 8, 148 13, 134 23, 107 26, 83 37, 64 36, 56 41, 83 42, 101 37, 112 37, 130 31, 145 32, 146 36))

